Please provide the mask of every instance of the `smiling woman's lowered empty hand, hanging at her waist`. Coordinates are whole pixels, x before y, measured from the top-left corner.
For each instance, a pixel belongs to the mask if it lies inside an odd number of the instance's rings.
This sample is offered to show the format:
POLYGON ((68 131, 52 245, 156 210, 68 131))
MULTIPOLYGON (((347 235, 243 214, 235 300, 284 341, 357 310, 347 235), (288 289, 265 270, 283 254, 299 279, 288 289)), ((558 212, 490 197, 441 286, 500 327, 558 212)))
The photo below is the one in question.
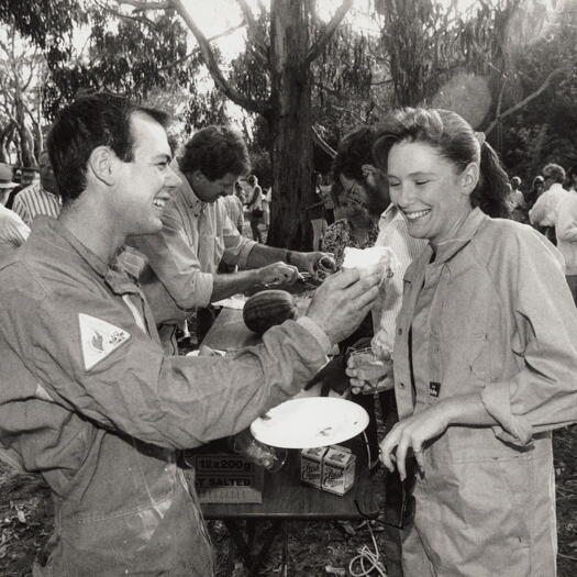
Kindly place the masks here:
POLYGON ((401 480, 407 477, 407 455, 412 450, 419 468, 424 473, 423 444, 443 434, 450 425, 450 412, 446 402, 440 402, 430 409, 413 414, 398 422, 380 443, 380 461, 392 471, 393 462, 401 480), (395 448, 397 448, 396 454, 395 448))

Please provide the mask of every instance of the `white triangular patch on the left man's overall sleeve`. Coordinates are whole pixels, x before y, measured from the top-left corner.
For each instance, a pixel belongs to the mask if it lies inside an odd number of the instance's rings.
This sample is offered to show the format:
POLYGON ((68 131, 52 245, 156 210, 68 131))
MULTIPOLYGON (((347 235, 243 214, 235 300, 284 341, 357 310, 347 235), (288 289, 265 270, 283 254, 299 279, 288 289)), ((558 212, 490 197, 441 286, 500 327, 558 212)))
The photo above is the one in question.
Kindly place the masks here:
POLYGON ((78 322, 86 370, 90 370, 130 339, 130 333, 123 329, 84 312, 78 313, 78 322))

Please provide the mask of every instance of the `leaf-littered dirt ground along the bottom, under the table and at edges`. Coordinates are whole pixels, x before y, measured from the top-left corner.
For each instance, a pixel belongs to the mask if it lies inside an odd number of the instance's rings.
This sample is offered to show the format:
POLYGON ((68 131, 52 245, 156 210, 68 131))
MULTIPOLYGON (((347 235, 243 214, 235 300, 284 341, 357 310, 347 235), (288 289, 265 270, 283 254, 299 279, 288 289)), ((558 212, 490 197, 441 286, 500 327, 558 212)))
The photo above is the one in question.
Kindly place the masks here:
MULTIPOLYGON (((554 435, 557 478, 558 575, 577 575, 577 426, 554 435)), ((0 464, 0 576, 32 575, 34 556, 53 526, 52 503, 40 477, 13 473, 0 464)), ((263 528, 265 531, 267 528, 263 528)), ((225 528, 212 522, 210 531, 218 552, 218 577, 244 577, 240 557, 225 528)), ((374 528, 379 551, 385 533, 374 528)), ((299 577, 346 576, 348 564, 363 546, 373 548, 367 525, 295 522, 289 526, 289 575, 299 577)), ((382 558, 382 557, 381 557, 382 558)), ((273 546, 260 575, 280 574, 281 540, 273 546)), ((386 559, 385 559, 386 562, 386 559)), ((359 566, 354 567, 356 572, 359 566)), ((374 572, 371 575, 377 575, 374 572)), ((506 568, 503 574, 507 575, 506 568)), ((548 576, 543 576, 548 577, 548 576)))

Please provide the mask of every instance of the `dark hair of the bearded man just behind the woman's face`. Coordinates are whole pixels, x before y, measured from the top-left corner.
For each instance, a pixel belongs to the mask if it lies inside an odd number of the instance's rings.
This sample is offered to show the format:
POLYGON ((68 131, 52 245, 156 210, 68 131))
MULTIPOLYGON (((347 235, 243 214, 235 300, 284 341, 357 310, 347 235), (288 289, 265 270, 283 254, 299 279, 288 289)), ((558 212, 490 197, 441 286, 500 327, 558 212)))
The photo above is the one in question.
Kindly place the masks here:
POLYGON ((340 175, 346 178, 363 182, 363 165, 375 164, 373 159, 373 145, 377 137, 377 132, 370 126, 360 126, 348 134, 345 134, 336 151, 333 160, 334 180, 339 180, 340 175))

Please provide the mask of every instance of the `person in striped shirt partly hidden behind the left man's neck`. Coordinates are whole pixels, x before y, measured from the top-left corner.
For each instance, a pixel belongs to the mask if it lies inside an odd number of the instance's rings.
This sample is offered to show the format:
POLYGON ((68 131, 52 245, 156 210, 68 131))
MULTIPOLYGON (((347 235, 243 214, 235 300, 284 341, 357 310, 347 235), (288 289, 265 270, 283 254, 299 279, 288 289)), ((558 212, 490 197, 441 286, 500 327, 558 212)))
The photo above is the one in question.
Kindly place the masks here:
POLYGON ((12 210, 29 225, 37 217, 58 218, 62 199, 54 179, 48 151, 43 151, 38 157, 40 182, 22 189, 14 198, 12 210))

